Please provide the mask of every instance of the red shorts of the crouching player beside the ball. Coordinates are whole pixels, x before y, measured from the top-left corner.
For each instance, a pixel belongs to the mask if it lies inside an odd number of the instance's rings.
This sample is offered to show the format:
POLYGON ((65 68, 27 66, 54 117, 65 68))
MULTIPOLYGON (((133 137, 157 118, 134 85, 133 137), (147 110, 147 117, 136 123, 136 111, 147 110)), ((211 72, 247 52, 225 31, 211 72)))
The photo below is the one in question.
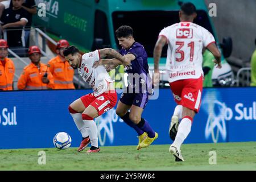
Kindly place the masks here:
POLYGON ((89 93, 81 97, 82 104, 85 107, 93 106, 98 111, 98 115, 105 113, 112 109, 117 104, 117 92, 102 93, 100 96, 95 97, 94 93, 89 93))

